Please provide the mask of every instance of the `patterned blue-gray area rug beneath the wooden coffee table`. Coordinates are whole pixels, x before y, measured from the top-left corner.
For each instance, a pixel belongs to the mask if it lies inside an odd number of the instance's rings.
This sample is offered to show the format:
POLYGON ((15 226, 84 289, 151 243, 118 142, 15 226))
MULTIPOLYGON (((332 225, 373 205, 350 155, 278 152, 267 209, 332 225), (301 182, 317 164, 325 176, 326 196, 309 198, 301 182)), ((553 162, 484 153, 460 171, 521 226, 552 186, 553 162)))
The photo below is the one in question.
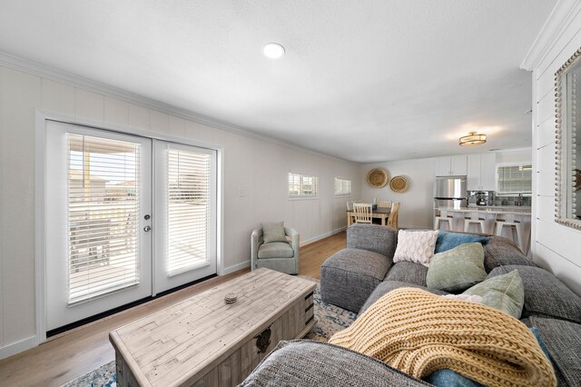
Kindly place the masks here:
MULTIPOLYGON (((300 275, 300 278, 317 283, 317 289, 313 295, 315 304, 315 317, 318 322, 315 328, 305 336, 305 339, 327 342, 333 333, 341 331, 350 326, 357 313, 352 313, 341 309, 338 306, 325 303, 320 300, 319 281, 300 275)), ((103 364, 92 372, 88 372, 72 382, 63 384, 63 387, 115 387, 115 362, 103 364)))

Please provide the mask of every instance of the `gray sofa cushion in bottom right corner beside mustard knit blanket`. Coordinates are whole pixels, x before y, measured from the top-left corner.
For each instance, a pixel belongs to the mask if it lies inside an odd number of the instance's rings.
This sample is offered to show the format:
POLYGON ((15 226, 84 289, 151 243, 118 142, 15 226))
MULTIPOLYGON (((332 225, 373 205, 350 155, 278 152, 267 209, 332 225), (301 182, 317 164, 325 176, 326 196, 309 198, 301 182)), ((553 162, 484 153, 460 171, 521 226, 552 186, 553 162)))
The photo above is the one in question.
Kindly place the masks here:
POLYGON ((558 385, 578 386, 581 382, 581 325, 535 316, 529 320, 545 342, 558 385))

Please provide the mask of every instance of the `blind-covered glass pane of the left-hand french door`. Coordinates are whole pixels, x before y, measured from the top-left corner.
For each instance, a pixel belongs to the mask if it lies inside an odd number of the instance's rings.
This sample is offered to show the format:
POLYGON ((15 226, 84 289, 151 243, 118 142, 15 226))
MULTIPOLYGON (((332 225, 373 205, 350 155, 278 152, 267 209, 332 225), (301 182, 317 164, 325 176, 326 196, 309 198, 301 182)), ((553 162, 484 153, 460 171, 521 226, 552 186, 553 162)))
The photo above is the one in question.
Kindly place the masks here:
POLYGON ((67 134, 68 303, 139 283, 140 145, 67 134))

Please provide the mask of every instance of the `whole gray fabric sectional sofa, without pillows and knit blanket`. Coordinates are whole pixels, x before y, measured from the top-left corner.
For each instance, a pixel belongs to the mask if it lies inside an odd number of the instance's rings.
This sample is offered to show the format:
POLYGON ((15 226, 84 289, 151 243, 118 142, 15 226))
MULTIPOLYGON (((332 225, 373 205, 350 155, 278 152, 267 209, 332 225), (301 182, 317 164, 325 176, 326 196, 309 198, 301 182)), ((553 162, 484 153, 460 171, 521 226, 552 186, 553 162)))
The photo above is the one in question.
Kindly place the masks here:
MULTIPOLYGON (((347 231, 347 247, 321 266, 322 300, 362 313, 382 295, 400 287, 446 294, 426 286, 427 267, 420 263, 393 263, 397 243, 398 232, 389 227, 351 225, 347 231)), ((537 267, 506 238, 490 236, 484 251, 487 278, 518 271, 525 288, 521 322, 537 327, 555 368, 558 385, 581 386, 581 298, 552 273, 537 267)), ((244 385, 420 386, 427 383, 342 347, 295 341, 281 342, 244 385)))

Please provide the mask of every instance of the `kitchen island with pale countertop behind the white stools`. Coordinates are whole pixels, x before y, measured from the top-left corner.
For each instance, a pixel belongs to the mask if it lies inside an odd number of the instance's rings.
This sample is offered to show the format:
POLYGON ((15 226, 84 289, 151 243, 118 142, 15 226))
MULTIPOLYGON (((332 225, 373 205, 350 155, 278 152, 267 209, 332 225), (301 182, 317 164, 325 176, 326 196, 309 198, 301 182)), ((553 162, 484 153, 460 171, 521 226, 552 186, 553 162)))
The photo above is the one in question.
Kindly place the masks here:
MULTIPOLYGON (((464 220, 469 218, 471 213, 478 213, 481 219, 484 219, 484 233, 496 234, 497 221, 507 221, 512 216, 518 222, 520 240, 517 241, 516 235, 512 235, 507 227, 503 227, 502 236, 508 239, 515 240, 520 250, 527 254, 530 246, 530 219, 531 208, 524 206, 475 206, 475 207, 445 207, 439 206, 434 209, 434 229, 437 229, 438 222, 436 216, 440 215, 440 211, 446 211, 448 217, 452 218, 452 231, 464 231, 464 220)), ((479 232, 473 228, 468 229, 468 232, 479 232)))

